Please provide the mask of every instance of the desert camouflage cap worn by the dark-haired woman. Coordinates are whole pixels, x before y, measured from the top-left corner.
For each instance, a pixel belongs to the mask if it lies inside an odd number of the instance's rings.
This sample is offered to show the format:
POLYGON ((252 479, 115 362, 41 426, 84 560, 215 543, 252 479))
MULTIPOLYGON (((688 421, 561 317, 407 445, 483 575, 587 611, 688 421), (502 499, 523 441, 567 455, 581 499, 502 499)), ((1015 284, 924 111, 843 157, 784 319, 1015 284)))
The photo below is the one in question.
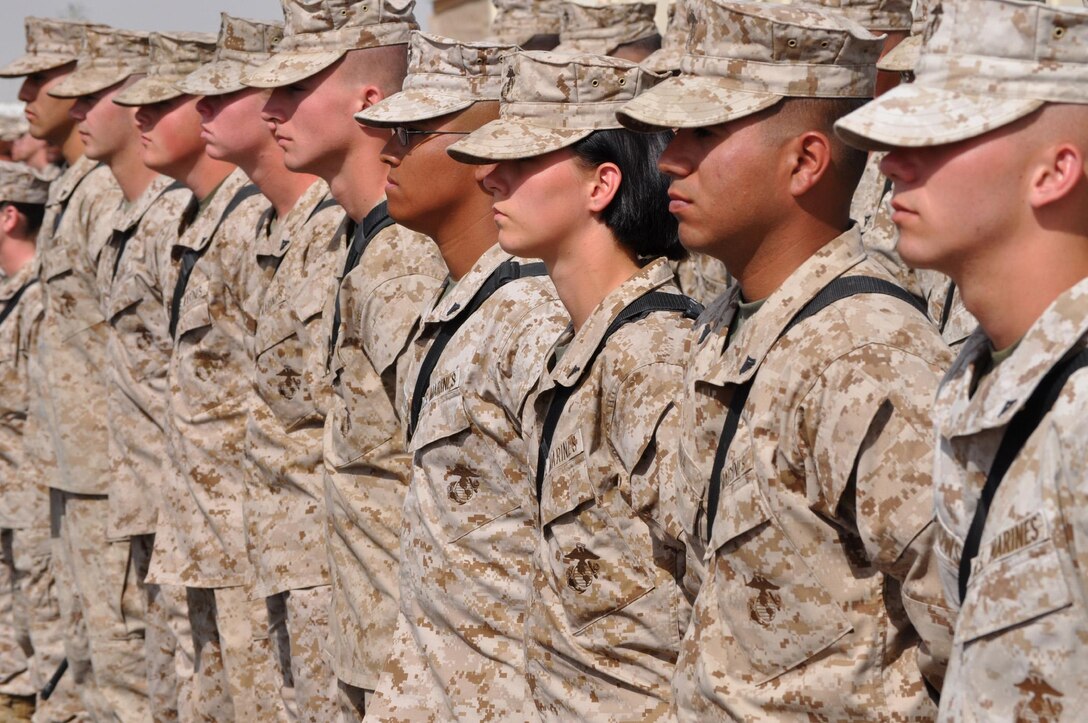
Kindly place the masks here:
POLYGON ((619 58, 518 51, 503 62, 499 117, 449 147, 462 163, 531 158, 594 130, 619 128, 616 111, 662 79, 619 58))

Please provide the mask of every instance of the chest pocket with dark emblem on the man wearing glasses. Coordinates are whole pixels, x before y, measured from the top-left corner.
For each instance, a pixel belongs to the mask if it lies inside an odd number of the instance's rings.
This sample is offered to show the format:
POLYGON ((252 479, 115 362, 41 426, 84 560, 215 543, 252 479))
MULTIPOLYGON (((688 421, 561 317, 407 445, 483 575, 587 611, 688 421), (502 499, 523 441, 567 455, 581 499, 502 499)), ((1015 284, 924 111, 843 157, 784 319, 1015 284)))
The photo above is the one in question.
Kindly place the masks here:
POLYGON ((435 514, 442 518, 446 541, 455 543, 521 507, 500 486, 494 450, 482 435, 471 434, 465 398, 456 376, 431 382, 409 449, 431 469, 435 514))

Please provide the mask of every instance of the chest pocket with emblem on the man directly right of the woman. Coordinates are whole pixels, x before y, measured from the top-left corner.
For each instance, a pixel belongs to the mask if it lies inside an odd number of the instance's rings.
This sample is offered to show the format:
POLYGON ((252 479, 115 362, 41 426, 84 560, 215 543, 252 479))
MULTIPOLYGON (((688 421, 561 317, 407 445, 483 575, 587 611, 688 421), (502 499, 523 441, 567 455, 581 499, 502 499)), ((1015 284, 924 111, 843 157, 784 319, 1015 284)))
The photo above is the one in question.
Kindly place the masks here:
POLYGON ((750 466, 721 493, 710 537, 719 614, 756 684, 803 664, 853 627, 770 512, 750 466))

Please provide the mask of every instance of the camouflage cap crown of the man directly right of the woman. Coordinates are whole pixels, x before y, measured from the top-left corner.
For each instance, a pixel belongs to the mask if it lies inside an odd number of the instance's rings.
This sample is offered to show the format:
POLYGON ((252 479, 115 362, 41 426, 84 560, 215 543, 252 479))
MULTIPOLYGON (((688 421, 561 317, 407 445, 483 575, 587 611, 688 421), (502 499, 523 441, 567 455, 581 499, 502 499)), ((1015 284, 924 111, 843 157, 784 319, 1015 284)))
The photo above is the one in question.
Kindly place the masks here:
POLYGON ((801 5, 693 0, 684 75, 739 90, 867 98, 883 36, 837 13, 801 5))

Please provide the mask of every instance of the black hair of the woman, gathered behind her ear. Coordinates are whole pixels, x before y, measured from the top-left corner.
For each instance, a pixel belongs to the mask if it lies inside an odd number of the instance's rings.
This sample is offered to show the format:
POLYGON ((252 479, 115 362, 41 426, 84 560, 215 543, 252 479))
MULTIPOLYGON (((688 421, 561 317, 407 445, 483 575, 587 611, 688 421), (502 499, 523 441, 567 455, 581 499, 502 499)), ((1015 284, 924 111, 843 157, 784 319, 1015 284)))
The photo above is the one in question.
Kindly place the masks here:
POLYGON ((594 130, 570 147, 588 166, 619 166, 622 180, 602 219, 616 239, 640 257, 682 259, 685 254, 677 220, 669 213, 669 178, 657 170, 657 159, 671 138, 671 130, 608 128, 594 130))

